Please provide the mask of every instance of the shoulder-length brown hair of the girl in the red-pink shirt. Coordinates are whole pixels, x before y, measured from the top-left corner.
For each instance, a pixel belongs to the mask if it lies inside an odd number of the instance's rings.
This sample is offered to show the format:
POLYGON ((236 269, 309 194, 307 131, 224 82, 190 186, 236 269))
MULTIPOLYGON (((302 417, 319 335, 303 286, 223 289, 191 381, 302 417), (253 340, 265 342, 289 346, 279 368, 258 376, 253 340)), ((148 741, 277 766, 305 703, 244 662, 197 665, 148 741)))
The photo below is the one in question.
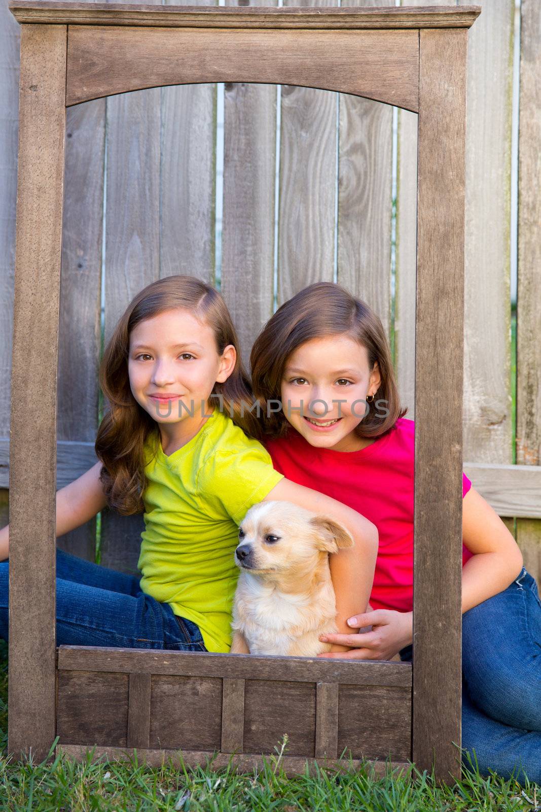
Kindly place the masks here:
POLYGON ((363 300, 333 282, 316 282, 299 291, 277 309, 251 348, 251 387, 260 404, 264 433, 283 437, 290 423, 283 410, 268 412, 266 403, 281 400, 281 381, 292 353, 311 339, 346 335, 367 348, 368 366, 378 363, 381 383, 367 417, 355 427, 360 438, 386 434, 407 408, 401 408, 387 335, 380 318, 363 300), (378 410, 378 401, 384 412, 378 410))

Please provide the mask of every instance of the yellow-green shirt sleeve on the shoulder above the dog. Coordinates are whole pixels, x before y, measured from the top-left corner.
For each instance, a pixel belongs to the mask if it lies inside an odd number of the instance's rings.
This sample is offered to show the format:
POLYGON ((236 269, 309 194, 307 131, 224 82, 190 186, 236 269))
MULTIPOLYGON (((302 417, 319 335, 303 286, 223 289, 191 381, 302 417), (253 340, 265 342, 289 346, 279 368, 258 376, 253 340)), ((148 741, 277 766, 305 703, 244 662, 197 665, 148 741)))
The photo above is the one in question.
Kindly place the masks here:
POLYGON ((217 499, 236 525, 284 478, 268 451, 254 443, 239 451, 217 451, 205 460, 197 480, 206 498, 217 499))

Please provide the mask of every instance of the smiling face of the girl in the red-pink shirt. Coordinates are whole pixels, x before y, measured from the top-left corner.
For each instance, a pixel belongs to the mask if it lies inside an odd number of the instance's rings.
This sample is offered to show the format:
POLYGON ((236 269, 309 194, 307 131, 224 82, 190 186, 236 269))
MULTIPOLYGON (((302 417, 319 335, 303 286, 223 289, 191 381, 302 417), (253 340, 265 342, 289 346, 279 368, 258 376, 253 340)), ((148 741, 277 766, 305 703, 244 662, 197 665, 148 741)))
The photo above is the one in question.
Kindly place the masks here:
POLYGON ((365 415, 367 395, 376 395, 379 386, 378 365, 369 369, 366 347, 347 335, 311 339, 286 362, 282 410, 311 446, 358 451, 373 442, 354 429, 365 415))

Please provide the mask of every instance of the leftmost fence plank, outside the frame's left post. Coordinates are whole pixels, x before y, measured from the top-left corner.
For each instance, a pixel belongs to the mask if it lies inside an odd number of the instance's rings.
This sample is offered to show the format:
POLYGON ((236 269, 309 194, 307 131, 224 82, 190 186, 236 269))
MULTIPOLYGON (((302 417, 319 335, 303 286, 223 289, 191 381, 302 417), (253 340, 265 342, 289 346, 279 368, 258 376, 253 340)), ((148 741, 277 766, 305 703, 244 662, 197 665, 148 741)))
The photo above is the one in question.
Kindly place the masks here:
MULTIPOLYGON (((6 2, 0 6, 0 437, 10 434, 11 341, 15 268, 15 201, 19 132, 19 31, 6 2)), ((0 490, 0 527, 8 520, 9 490, 0 490)))

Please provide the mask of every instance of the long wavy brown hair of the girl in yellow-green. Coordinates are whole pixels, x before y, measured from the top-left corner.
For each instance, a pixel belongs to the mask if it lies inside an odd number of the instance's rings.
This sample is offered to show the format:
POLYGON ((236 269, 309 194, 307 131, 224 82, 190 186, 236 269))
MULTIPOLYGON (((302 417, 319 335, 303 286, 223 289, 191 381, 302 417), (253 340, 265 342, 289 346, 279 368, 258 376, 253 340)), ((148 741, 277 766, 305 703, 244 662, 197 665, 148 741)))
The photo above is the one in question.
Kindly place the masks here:
MULTIPOLYGON (((144 319, 165 310, 184 308, 212 328, 218 355, 228 344, 237 351, 234 370, 225 382, 217 382, 211 406, 217 405, 250 437, 260 438, 255 415, 243 408, 252 400, 250 379, 243 367, 234 324, 225 301, 215 288, 187 275, 167 276, 144 287, 118 320, 100 366, 100 385, 109 409, 97 431, 96 454, 101 460, 101 483, 109 508, 122 516, 144 511, 144 442, 157 422, 131 394, 128 355, 131 330, 144 319)), ((147 460, 148 461, 148 460, 147 460)))

